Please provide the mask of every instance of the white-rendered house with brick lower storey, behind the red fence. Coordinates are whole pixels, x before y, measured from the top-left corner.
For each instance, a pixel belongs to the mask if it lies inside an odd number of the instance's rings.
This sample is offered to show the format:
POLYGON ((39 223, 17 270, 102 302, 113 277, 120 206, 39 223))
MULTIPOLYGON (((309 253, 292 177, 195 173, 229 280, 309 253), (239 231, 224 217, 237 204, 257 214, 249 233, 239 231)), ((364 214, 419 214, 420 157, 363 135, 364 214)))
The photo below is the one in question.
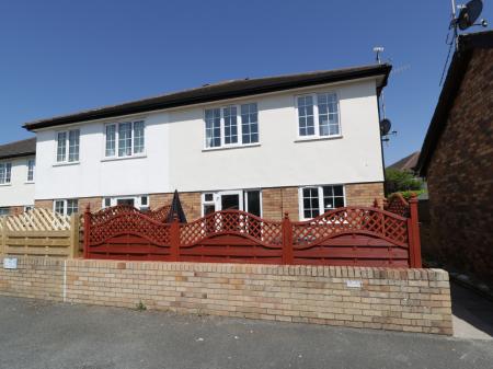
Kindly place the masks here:
POLYGON ((310 219, 383 197, 378 96, 391 66, 231 80, 24 125, 35 206, 240 209, 310 219))

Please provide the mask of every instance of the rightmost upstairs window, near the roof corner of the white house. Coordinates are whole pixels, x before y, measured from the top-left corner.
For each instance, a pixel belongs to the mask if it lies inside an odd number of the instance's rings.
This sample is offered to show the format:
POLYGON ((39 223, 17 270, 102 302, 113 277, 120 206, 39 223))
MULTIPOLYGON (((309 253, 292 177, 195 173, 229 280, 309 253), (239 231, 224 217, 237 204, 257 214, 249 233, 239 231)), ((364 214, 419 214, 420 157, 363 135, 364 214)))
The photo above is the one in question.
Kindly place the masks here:
POLYGON ((323 138, 341 135, 337 95, 333 92, 298 96, 298 136, 323 138))

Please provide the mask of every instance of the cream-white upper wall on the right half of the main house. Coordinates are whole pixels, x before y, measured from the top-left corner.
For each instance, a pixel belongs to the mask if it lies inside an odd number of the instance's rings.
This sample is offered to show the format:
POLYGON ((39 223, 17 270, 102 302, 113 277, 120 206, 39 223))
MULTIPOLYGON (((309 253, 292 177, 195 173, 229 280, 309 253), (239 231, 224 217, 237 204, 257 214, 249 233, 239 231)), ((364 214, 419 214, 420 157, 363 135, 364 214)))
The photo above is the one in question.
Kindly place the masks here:
MULTIPOLYGON (((375 81, 256 102, 260 146, 205 151, 204 106, 170 113, 170 178, 182 192, 383 181, 375 81), (342 138, 298 141, 296 95, 335 91, 342 138)), ((208 107, 223 106, 210 104, 208 107)))

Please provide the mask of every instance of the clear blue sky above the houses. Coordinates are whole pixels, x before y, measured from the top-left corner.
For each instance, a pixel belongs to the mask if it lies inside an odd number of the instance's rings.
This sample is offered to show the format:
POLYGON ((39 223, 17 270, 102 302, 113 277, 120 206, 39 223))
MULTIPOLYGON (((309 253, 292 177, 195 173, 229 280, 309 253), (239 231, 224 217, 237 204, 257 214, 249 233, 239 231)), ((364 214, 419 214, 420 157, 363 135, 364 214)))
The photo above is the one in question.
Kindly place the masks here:
MULTIPOLYGON (((482 16, 493 22, 493 4, 482 16)), ((370 64, 398 135, 392 163, 419 150, 440 91, 449 0, 0 3, 0 143, 25 122, 204 83, 370 64)), ((477 28, 480 31, 479 28, 477 28)))

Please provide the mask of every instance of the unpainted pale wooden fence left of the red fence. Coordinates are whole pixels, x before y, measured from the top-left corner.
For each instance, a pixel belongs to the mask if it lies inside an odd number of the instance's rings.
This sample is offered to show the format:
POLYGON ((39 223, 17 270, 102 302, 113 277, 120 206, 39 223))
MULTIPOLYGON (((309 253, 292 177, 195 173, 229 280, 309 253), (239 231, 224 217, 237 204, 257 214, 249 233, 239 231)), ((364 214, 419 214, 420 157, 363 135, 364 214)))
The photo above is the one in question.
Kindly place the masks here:
POLYGON ((1 256, 77 257, 79 217, 46 209, 0 218, 1 256))

